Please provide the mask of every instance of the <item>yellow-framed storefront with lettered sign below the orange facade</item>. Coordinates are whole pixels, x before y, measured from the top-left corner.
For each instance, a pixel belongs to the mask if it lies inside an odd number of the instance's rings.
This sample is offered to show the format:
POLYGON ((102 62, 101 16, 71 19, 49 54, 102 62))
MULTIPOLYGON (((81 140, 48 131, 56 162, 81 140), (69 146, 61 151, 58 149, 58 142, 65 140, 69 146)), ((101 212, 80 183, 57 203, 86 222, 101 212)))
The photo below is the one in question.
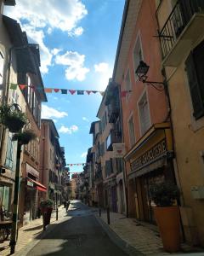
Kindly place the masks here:
POLYGON ((170 124, 153 125, 124 159, 130 168, 127 173, 129 216, 155 223, 150 184, 174 181, 170 124))

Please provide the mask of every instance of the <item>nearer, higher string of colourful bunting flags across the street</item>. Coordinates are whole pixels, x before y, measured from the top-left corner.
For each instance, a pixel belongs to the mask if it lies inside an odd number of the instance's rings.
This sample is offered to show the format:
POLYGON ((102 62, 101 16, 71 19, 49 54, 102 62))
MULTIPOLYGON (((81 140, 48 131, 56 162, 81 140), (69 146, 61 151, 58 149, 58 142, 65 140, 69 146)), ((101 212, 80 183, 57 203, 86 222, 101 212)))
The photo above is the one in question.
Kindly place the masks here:
MULTIPOLYGON (((17 87, 20 87, 20 90, 25 90, 26 87, 30 87, 32 90, 42 90, 45 93, 59 93, 61 92, 61 94, 68 94, 68 92, 71 95, 75 95, 77 93, 77 95, 85 95, 85 92, 87 93, 87 95, 89 96, 91 93, 99 93, 101 96, 104 96, 105 91, 101 91, 101 90, 72 90, 72 89, 59 89, 59 88, 42 88, 42 87, 37 87, 37 86, 33 86, 33 85, 26 85, 26 84, 10 84, 10 89, 11 90, 17 90, 17 87)), ((121 97, 125 97, 127 96, 127 94, 129 92, 131 92, 132 90, 122 90, 121 91, 121 97)))

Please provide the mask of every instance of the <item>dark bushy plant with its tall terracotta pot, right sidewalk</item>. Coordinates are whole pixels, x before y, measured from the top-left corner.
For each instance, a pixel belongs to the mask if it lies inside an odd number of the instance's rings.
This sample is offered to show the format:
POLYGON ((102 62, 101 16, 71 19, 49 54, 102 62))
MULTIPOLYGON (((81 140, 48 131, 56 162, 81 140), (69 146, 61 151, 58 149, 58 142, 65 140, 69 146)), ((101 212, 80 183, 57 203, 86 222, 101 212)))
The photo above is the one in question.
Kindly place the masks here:
POLYGON ((154 214, 159 227, 163 247, 167 252, 178 252, 180 248, 180 215, 176 202, 178 187, 171 182, 150 185, 150 199, 154 201, 154 214))

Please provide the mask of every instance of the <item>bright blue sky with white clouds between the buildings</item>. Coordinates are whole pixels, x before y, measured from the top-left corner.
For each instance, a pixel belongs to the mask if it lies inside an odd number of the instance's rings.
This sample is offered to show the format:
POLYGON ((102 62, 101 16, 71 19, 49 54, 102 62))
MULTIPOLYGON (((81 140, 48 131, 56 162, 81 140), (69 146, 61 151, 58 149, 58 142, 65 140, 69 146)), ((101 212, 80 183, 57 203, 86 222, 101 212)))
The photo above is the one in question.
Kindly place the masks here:
MULTIPOLYGON (((16 0, 6 15, 40 45, 45 87, 105 90, 111 78, 125 0, 16 0)), ((90 124, 102 96, 47 94, 42 118, 54 119, 67 163, 86 161, 90 124)), ((82 172, 82 166, 71 167, 82 172)))

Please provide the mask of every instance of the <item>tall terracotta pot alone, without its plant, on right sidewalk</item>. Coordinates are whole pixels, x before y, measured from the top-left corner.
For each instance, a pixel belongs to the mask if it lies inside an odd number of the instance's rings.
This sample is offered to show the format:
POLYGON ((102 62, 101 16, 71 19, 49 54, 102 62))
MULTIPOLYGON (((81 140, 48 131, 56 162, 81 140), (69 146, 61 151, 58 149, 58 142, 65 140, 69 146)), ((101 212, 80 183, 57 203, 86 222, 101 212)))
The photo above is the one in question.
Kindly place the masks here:
POLYGON ((178 252, 180 248, 180 215, 178 207, 154 207, 164 250, 178 252))

